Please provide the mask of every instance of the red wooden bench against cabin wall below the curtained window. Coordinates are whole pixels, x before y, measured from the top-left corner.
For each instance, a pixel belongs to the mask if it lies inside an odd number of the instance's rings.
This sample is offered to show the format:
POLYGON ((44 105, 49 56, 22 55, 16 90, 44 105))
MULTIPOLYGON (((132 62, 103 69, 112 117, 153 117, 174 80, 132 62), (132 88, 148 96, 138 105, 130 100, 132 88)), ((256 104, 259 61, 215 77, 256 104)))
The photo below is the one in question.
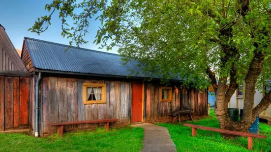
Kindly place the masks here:
POLYGON ((64 122, 64 123, 55 123, 55 124, 48 124, 48 126, 58 126, 58 133, 61 137, 63 137, 63 128, 67 125, 80 125, 80 124, 95 124, 95 123, 106 123, 105 128, 108 132, 109 130, 109 123, 110 122, 117 122, 119 119, 99 119, 99 120, 86 120, 86 121, 77 121, 77 122, 64 122))

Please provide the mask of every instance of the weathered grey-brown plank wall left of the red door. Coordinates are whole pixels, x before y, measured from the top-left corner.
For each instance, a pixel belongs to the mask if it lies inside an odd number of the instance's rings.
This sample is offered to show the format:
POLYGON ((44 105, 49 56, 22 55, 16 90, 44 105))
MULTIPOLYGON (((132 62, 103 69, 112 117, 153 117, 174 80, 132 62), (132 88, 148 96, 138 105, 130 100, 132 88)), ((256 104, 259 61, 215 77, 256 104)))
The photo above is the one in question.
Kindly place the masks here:
MULTIPOLYGON (((111 126, 130 124, 131 82, 43 77, 40 88, 41 136, 57 132, 57 127, 48 127, 51 123, 117 118, 120 121, 111 126), (107 102, 83 104, 84 82, 106 83, 107 102)), ((71 125, 64 127, 64 131, 91 129, 100 125, 71 125)))

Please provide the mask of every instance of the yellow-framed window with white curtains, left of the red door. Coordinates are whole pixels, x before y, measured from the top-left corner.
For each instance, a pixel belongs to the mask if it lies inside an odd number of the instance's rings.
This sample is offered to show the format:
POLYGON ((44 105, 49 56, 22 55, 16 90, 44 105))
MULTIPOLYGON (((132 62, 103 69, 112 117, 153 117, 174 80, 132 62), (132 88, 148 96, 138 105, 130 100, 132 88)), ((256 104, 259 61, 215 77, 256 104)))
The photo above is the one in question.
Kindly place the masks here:
POLYGON ((104 83, 84 83, 84 104, 106 103, 106 85, 104 83))

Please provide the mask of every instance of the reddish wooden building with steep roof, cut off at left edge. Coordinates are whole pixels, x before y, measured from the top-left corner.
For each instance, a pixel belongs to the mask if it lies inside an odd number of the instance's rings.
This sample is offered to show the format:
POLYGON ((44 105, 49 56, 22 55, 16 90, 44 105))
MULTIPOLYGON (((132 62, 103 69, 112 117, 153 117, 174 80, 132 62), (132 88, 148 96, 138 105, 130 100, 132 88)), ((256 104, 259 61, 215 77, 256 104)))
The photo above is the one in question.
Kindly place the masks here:
POLYGON ((0 25, 0 132, 29 130, 30 76, 0 25))

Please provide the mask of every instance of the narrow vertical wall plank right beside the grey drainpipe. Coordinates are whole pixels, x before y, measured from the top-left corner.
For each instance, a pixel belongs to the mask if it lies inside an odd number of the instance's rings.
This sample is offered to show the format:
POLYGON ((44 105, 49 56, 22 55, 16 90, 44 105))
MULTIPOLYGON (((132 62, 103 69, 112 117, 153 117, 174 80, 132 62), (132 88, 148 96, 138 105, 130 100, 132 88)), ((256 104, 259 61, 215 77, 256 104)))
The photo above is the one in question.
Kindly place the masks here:
POLYGON ((51 128, 48 127, 50 124, 50 111, 49 111, 49 78, 42 78, 43 88, 43 133, 48 134, 51 132, 51 128))

